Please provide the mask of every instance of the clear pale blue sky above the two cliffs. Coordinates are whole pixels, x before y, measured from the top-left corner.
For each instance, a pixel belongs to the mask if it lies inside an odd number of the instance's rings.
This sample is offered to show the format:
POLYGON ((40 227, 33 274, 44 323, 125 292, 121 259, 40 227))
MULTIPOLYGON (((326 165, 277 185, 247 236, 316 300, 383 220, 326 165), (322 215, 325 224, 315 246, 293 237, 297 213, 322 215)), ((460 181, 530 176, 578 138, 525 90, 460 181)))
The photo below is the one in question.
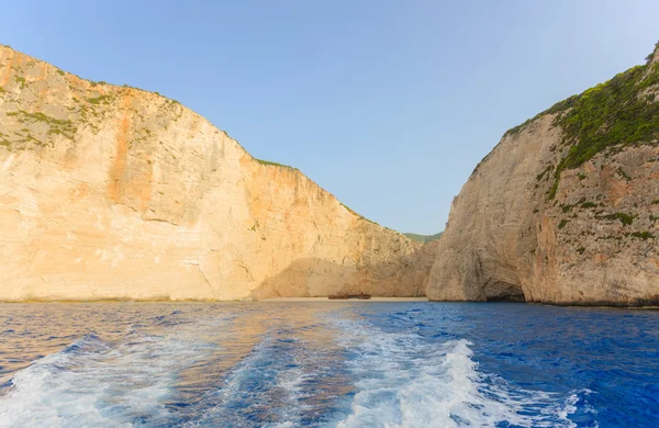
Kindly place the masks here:
POLYGON ((0 43, 158 91, 431 234, 505 129, 641 64, 657 0, 11 1, 0 43))

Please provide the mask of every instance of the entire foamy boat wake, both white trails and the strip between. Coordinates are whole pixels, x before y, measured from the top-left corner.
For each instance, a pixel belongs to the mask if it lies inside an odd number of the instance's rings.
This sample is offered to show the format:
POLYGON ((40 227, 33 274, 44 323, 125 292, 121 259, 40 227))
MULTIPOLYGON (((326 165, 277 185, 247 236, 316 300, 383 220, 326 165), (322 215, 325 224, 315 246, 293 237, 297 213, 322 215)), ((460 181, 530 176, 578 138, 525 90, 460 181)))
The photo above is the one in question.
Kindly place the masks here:
POLYGON ((529 391, 481 372, 465 339, 354 313, 270 322, 233 356, 241 338, 222 336, 233 318, 216 314, 158 317, 115 341, 88 334, 13 374, 0 427, 573 427, 594 413, 588 390, 529 391))

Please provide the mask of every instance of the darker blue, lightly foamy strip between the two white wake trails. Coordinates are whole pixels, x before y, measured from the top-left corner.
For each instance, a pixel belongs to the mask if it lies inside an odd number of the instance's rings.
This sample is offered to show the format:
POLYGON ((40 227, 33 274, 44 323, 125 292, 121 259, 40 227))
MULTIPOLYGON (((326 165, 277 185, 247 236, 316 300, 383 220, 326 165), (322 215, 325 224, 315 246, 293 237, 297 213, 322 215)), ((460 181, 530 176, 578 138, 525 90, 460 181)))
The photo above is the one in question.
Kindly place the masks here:
POLYGON ((349 380, 342 373, 343 349, 315 342, 313 335, 304 335, 308 327, 277 326, 263 335, 206 403, 200 403, 214 405, 187 426, 328 426, 349 380))

